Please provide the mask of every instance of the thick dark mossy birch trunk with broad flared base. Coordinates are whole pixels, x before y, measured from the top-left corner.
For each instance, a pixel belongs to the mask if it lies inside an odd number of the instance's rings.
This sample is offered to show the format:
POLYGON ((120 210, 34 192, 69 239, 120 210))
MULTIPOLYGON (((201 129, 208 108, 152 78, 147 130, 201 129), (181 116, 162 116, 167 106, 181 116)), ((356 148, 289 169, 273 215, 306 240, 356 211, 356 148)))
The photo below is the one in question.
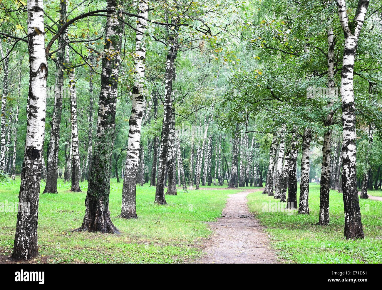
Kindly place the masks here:
POLYGON ((101 90, 99 96, 97 135, 89 172, 89 184, 85 199, 85 216, 78 230, 118 233, 110 219, 109 193, 111 157, 115 134, 115 108, 117 105, 118 73, 122 23, 118 19, 117 2, 107 1, 106 41, 102 54, 101 90))

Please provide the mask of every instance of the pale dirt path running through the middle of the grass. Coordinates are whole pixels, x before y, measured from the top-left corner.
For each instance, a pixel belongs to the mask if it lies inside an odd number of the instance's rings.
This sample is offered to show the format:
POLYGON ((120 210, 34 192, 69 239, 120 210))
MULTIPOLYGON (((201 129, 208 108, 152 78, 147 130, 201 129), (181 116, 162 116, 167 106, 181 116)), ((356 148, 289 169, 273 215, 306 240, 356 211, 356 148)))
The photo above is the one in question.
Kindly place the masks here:
POLYGON ((247 195, 262 190, 228 195, 222 217, 209 223, 214 234, 202 246, 207 255, 197 263, 280 263, 269 248, 264 227, 247 207, 247 195))

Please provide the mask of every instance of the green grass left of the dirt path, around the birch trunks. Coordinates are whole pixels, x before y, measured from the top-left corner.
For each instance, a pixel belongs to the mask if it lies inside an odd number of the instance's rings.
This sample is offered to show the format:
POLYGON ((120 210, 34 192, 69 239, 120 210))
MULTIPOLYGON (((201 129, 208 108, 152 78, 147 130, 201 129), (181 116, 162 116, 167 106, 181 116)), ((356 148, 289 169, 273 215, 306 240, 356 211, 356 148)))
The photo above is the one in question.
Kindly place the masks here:
MULTIPOLYGON (((168 196, 168 205, 154 204, 155 188, 137 188, 138 219, 118 217, 122 183, 112 180, 110 213, 121 234, 71 232, 81 226, 85 213, 87 182, 83 192, 70 192, 70 184, 58 182, 58 194, 40 194, 36 262, 49 263, 185 263, 202 255, 195 246, 210 230, 207 221, 220 216, 227 195, 240 190, 193 190, 168 196), (44 258, 45 257, 45 258, 44 258)), ((0 201, 18 201, 20 180, 0 185, 0 201)), ((226 185, 227 186, 227 185, 226 185)), ((41 185, 43 190, 45 184, 41 185)), ((16 213, 0 213, 0 252, 13 249, 16 213)))

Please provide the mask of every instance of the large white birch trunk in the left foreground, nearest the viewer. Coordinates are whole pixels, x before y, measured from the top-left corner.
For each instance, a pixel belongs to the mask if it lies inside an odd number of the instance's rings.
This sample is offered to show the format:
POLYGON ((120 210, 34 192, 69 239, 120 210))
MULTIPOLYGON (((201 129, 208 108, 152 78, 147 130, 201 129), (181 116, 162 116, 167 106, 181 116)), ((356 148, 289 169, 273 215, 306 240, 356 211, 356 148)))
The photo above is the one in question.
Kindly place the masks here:
POLYGON ((29 47, 29 93, 24 161, 21 171, 19 204, 12 258, 28 260, 38 255, 37 217, 39 207, 41 156, 44 145, 46 82, 44 5, 42 0, 27 3, 29 47))

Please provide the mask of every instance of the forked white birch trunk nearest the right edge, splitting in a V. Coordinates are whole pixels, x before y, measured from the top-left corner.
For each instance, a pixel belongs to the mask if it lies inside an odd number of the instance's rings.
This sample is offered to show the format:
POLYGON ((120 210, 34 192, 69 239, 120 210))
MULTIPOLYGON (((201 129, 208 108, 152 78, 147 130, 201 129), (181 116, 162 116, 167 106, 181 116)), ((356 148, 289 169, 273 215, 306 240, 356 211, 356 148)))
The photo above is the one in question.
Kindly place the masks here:
POLYGON ((346 0, 337 0, 338 17, 345 36, 341 71, 341 97, 343 121, 342 193, 345 211, 344 237, 346 239, 364 238, 356 180, 356 113, 353 76, 358 39, 368 6, 368 0, 359 0, 354 19, 349 21, 346 0))

